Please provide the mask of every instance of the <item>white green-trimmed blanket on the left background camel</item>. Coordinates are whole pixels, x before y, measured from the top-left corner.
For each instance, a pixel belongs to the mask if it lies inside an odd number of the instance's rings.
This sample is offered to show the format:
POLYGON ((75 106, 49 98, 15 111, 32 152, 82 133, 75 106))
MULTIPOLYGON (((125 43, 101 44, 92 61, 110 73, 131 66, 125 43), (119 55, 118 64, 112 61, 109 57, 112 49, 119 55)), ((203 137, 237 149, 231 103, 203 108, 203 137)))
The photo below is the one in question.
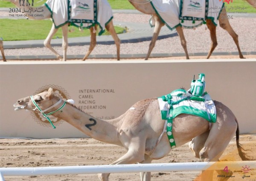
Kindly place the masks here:
POLYGON ((113 12, 107 0, 47 0, 55 28, 66 23, 81 29, 99 25, 99 35, 112 20, 113 12))

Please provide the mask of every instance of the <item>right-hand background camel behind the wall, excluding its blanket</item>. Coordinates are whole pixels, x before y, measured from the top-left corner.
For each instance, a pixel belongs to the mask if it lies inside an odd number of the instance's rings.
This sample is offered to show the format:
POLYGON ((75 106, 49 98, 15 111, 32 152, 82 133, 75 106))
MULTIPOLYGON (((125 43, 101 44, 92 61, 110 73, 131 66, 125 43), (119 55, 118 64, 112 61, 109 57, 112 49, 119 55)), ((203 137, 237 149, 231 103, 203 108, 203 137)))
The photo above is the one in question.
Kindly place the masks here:
MULTIPOLYGON (((151 54, 152 49, 155 46, 157 37, 160 33, 160 29, 162 26, 165 25, 165 23, 161 20, 161 17, 158 15, 158 13, 156 13, 156 11, 153 9, 153 7, 151 6, 151 0, 150 1, 145 1, 145 0, 128 0, 138 11, 141 11, 145 14, 151 14, 155 20, 155 27, 154 27, 154 33, 153 33, 153 37, 151 40, 151 43, 149 44, 149 48, 148 48, 148 53, 145 57, 145 60, 148 60, 149 55, 151 54)), ((250 1, 250 3, 255 3, 255 0, 248 0, 248 2, 250 1)), ((217 13, 218 10, 216 10, 217 13)), ((244 58, 244 56, 241 53, 240 47, 239 47, 239 41, 238 41, 238 35, 236 34, 236 32, 234 32, 234 30, 232 29, 232 27, 230 26, 230 23, 228 21, 228 17, 227 17, 227 13, 226 13, 226 9, 225 7, 222 9, 221 11, 221 18, 218 18, 219 24, 221 26, 221 28, 227 30, 227 32, 231 35, 231 37, 233 38, 234 42, 236 43, 238 52, 239 52, 239 57, 240 58, 244 58)), ((211 44, 211 48, 209 50, 209 53, 207 55, 207 59, 211 56, 213 50, 215 49, 215 47, 217 46, 217 37, 216 37, 216 26, 214 25, 214 23, 212 23, 212 20, 207 19, 207 27, 210 31, 210 37, 212 40, 212 44, 211 44)), ((187 47, 186 47, 186 39, 184 37, 183 34, 183 30, 181 26, 177 26, 176 27, 177 33, 180 37, 180 42, 181 45, 185 51, 186 54, 186 59, 189 59, 189 55, 188 55, 188 51, 187 51, 187 47)))

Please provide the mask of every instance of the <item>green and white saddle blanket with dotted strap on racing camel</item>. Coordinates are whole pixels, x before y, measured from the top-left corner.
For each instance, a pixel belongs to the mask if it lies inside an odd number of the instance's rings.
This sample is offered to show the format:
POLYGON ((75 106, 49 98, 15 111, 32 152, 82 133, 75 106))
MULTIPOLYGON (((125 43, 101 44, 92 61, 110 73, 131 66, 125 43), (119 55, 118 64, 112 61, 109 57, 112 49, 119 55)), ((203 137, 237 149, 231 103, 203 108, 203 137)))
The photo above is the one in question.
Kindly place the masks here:
POLYGON ((216 108, 212 98, 206 92, 203 97, 192 96, 183 89, 172 91, 168 95, 158 98, 163 120, 167 120, 166 132, 171 148, 175 148, 172 135, 172 120, 180 114, 190 114, 202 117, 210 123, 216 122, 216 108))

